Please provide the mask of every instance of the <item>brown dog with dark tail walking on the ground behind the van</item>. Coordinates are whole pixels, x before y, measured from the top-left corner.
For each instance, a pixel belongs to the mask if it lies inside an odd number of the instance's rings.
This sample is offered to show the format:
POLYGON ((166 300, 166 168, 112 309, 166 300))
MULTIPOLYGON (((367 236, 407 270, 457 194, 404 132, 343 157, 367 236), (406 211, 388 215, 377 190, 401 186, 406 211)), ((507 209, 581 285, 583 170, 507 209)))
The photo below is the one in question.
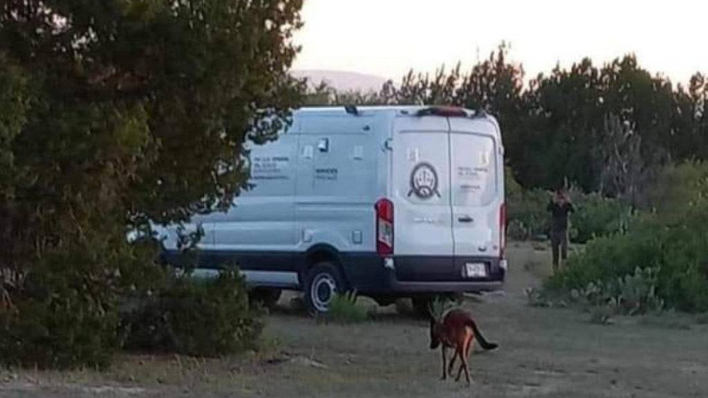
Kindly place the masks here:
POLYGON ((442 345, 442 380, 447 378, 448 373, 452 375, 452 367, 455 365, 455 359, 459 357, 462 364, 459 365, 455 381, 459 380, 460 375, 462 375, 462 370, 464 370, 464 377, 469 384, 467 357, 469 356, 469 350, 472 348, 472 343, 474 343, 475 338, 479 341, 479 345, 485 350, 493 350, 499 346, 497 343, 491 343, 484 339, 484 336, 482 336, 479 329, 477 329, 472 315, 463 309, 452 309, 442 314, 438 319, 435 317, 430 318, 430 349, 434 350, 442 345), (445 358, 447 348, 455 348, 455 353, 452 355, 452 359, 450 359, 449 367, 447 366, 447 360, 445 358))

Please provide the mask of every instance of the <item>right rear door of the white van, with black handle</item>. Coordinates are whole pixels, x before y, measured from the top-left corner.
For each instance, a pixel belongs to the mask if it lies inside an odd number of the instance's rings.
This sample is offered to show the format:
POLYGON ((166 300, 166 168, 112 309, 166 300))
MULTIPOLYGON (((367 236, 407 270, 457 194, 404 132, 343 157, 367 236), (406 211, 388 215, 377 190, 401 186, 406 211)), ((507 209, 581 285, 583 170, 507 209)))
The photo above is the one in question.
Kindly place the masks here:
POLYGON ((457 259, 500 253, 503 200, 493 132, 488 123, 450 118, 452 236, 457 259))

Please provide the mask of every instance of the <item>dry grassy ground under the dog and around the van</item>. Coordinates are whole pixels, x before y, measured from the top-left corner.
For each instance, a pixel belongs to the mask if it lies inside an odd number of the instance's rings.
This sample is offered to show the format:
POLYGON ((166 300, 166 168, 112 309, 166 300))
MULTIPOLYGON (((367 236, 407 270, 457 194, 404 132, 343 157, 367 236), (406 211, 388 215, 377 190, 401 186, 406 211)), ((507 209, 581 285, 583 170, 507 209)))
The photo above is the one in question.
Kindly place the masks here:
POLYGON ((106 373, 4 370, 0 397, 708 397, 705 319, 602 326, 577 310, 528 307, 523 289, 550 272, 549 251, 538 249, 513 244, 506 292, 465 303, 501 343, 472 353, 471 387, 439 380, 426 322, 392 306, 346 326, 281 309, 268 317, 265 348, 234 358, 125 356, 106 373))

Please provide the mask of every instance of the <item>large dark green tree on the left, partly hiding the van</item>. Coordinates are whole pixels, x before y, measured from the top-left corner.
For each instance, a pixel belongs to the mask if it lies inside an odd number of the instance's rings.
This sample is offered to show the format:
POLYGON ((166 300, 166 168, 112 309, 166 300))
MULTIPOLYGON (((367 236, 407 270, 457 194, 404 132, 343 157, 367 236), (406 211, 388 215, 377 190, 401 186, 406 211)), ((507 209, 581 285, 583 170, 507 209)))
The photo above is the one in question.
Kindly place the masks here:
MULTIPOLYGON (((128 229, 232 203, 246 179, 244 139, 275 138, 299 101, 302 83, 287 70, 301 7, 2 2, 0 282, 16 300, 6 307, 45 322, 16 334, 20 343, 61 350, 59 331, 40 332, 54 314, 84 309, 93 324, 114 322, 106 275, 144 266, 125 243, 128 229), (40 270, 47 276, 33 275, 40 270)), ((22 319, 8 316, 0 326, 22 319)))

